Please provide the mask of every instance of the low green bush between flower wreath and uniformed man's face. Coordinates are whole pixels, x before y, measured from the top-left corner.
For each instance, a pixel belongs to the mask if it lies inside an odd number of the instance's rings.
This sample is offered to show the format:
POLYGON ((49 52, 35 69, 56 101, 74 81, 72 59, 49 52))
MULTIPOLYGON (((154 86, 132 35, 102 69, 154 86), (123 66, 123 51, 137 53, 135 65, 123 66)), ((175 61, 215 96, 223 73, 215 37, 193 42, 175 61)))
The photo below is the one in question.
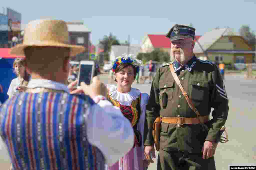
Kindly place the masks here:
POLYGON ((158 62, 169 62, 170 55, 165 51, 162 51, 160 49, 155 49, 151 53, 139 53, 137 55, 137 59, 142 60, 143 63, 149 60, 158 61, 158 62))

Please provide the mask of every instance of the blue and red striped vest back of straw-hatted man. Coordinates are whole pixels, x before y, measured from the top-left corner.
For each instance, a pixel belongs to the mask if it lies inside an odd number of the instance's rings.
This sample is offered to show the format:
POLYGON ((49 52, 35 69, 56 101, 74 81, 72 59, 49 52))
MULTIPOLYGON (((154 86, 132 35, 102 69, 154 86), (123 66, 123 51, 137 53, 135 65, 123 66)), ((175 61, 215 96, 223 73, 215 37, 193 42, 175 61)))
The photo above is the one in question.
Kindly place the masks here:
POLYGON ((104 169, 99 149, 87 140, 88 96, 22 92, 0 108, 0 135, 14 169, 104 169))

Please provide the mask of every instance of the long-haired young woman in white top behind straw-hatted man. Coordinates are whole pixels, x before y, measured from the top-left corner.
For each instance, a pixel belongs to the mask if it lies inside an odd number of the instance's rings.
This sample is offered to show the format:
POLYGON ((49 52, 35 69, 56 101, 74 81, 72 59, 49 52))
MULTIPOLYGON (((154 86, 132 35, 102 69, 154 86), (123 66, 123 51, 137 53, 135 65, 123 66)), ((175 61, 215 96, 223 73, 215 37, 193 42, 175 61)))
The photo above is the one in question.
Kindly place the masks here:
POLYGON ((13 62, 13 68, 14 68, 14 73, 17 75, 17 78, 13 79, 9 86, 9 89, 7 92, 9 97, 12 97, 12 95, 21 91, 19 86, 28 85, 28 81, 30 78, 24 66, 24 58, 16 58, 13 62))

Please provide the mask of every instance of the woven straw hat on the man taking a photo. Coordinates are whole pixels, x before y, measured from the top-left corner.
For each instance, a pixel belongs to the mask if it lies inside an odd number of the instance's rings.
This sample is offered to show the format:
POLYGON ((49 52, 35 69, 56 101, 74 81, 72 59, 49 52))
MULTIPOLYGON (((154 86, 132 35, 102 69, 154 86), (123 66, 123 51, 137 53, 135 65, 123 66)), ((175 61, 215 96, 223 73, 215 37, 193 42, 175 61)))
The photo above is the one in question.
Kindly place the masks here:
POLYGON ((70 48, 70 56, 75 56, 84 51, 80 45, 69 44, 68 27, 61 20, 34 20, 28 23, 24 30, 22 44, 10 49, 10 54, 25 56, 24 49, 29 46, 53 46, 70 48))

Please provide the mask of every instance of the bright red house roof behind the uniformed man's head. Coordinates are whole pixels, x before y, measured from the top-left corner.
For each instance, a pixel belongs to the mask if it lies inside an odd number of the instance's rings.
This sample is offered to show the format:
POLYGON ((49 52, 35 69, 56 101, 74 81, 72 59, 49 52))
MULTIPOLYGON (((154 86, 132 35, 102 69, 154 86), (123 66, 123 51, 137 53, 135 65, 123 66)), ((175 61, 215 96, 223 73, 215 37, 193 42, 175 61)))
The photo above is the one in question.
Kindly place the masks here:
MULTIPOLYGON (((154 48, 170 48, 170 39, 165 35, 148 34, 154 48)), ((198 40, 201 35, 196 35, 194 41, 198 40)))

